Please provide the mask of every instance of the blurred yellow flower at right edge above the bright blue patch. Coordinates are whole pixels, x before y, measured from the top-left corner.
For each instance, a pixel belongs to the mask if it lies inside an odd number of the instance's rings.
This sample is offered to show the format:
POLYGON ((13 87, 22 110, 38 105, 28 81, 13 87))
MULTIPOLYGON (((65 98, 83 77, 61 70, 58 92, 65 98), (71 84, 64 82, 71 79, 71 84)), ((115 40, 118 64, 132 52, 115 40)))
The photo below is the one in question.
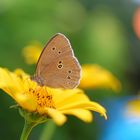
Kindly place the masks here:
POLYGON ((140 117, 140 98, 128 102, 126 114, 128 117, 140 117))

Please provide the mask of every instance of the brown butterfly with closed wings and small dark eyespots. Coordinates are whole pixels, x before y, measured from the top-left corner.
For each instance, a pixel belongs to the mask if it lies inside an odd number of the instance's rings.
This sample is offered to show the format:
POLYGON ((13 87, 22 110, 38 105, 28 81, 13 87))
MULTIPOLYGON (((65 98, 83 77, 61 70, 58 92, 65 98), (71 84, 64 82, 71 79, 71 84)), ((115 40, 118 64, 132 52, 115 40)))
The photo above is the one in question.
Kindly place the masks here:
POLYGON ((44 47, 31 77, 40 86, 72 89, 79 85, 81 66, 65 35, 57 33, 44 47))

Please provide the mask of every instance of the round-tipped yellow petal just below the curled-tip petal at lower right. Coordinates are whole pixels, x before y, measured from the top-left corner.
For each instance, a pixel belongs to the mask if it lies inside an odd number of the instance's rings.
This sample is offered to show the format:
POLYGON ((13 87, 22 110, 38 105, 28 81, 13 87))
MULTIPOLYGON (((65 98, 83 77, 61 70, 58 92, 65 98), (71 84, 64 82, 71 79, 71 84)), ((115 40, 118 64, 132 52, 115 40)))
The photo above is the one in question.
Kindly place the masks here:
POLYGON ((91 122, 93 119, 92 113, 89 110, 85 110, 85 109, 64 110, 62 112, 67 115, 74 115, 77 118, 87 123, 91 122))

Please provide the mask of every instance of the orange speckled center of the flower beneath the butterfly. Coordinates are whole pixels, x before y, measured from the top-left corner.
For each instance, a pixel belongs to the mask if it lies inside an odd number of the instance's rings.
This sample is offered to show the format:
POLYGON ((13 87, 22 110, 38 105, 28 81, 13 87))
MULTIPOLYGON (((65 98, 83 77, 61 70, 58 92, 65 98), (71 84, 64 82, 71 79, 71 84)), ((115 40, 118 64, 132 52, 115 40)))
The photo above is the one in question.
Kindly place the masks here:
POLYGON ((53 97, 47 92, 45 87, 37 86, 34 89, 30 88, 29 93, 32 94, 37 100, 37 110, 40 110, 44 107, 55 108, 53 97))

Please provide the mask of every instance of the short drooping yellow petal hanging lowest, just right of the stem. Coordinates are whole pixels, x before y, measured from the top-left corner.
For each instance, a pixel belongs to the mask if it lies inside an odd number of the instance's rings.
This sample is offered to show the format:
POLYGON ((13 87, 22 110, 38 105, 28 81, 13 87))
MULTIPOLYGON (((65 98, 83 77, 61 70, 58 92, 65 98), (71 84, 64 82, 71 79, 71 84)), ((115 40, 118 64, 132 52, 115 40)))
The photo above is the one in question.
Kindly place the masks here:
POLYGON ((57 125, 63 125, 67 120, 66 116, 56 109, 46 108, 46 112, 57 125))

